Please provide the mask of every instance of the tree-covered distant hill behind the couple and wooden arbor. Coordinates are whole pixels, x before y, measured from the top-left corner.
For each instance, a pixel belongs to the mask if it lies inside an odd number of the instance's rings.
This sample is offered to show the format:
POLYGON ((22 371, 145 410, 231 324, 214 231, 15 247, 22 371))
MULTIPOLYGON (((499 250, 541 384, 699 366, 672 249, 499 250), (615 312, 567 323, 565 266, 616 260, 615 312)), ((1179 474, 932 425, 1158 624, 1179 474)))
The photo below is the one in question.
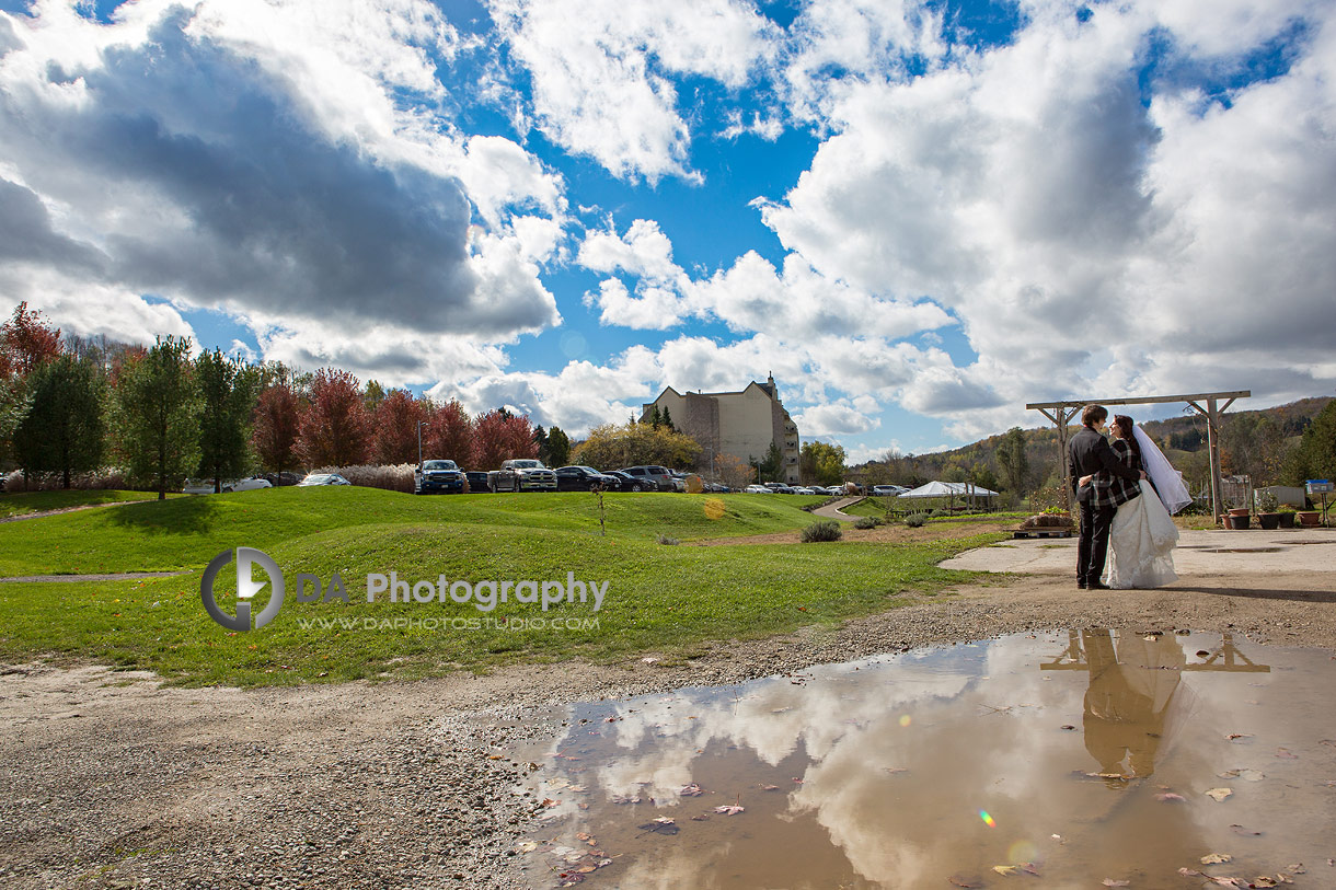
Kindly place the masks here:
MULTIPOLYGON (((1222 418, 1221 458, 1226 473, 1246 473, 1255 484, 1279 481, 1280 464, 1313 418, 1331 402, 1331 397, 1301 398, 1297 402, 1260 410, 1228 412, 1222 418)), ((1137 406, 1118 408, 1136 418, 1137 406)), ((1186 408, 1186 405, 1184 406, 1186 408)), ((1188 409, 1192 410, 1192 409, 1188 409)), ((1206 482, 1210 472, 1206 454, 1206 421, 1196 412, 1162 421, 1148 421, 1146 433, 1156 440, 1173 465, 1194 489, 1206 482)), ((1050 424, 1022 430, 1030 473, 1026 492, 1058 485, 1058 430, 1050 424)), ((850 469, 848 478, 867 484, 892 482, 922 485, 933 480, 970 480, 986 488, 1003 490, 1003 473, 997 460, 1003 436, 990 436, 949 452, 933 454, 888 454, 886 460, 868 461, 850 469)))

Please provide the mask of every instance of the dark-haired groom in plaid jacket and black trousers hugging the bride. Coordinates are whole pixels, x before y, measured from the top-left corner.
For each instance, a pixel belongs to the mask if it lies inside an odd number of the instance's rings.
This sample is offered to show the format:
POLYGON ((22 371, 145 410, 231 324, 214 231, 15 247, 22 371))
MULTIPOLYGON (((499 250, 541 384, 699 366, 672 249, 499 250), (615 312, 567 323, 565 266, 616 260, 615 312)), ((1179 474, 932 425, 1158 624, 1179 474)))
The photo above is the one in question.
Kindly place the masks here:
POLYGON ((1146 477, 1144 472, 1126 466, 1113 453, 1109 440, 1104 437, 1104 422, 1108 418, 1109 412, 1102 405, 1086 405, 1081 412, 1083 429, 1067 442, 1071 490, 1081 504, 1077 587, 1082 591, 1109 589, 1100 576, 1104 575, 1104 561, 1109 556, 1109 529, 1113 527, 1113 514, 1118 512, 1118 490, 1122 490, 1121 485, 1114 485, 1114 477, 1133 485, 1146 477), (1082 476, 1094 478, 1077 488, 1077 480, 1082 476))

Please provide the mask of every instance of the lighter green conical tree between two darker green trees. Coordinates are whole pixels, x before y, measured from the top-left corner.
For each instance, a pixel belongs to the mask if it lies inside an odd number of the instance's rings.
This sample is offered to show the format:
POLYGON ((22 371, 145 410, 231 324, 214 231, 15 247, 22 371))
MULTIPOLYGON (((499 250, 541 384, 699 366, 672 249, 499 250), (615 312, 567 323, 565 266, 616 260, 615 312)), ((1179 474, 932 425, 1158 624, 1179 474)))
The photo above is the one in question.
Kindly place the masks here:
POLYGON ((127 353, 111 400, 116 453, 158 500, 199 466, 202 400, 190 361, 190 339, 159 337, 143 354, 127 353))

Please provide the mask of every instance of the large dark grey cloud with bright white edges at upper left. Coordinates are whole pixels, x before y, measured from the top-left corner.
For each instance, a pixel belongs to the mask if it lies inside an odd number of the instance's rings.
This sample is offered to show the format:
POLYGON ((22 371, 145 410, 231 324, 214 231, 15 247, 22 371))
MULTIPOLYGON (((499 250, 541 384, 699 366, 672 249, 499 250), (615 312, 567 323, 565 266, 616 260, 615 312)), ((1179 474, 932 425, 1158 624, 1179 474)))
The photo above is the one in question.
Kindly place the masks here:
POLYGON ((0 158, 7 188, 27 190, 5 216, 47 223, 31 230, 63 251, 47 265, 289 321, 497 339, 558 321, 533 257, 552 245, 500 223, 509 206, 558 214, 560 182, 504 139, 428 138, 395 102, 441 91, 425 47, 454 43, 433 7, 383 0, 353 33, 337 27, 358 19, 350 4, 118 15, 4 17, 23 45, 0 59, 0 158), (500 231, 470 239, 465 178, 500 231))

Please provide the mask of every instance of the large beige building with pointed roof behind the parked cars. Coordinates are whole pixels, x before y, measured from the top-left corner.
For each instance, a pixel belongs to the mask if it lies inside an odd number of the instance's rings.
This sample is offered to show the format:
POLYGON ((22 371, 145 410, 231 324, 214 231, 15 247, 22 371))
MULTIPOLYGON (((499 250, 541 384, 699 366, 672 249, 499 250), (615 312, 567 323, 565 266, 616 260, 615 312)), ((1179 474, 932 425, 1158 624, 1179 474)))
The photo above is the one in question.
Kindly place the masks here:
POLYGON ((679 393, 669 386, 643 405, 640 420, 648 421, 655 408, 660 414, 667 409, 673 426, 700 442, 701 472, 713 476, 713 461, 720 454, 763 461, 774 442, 784 481, 798 482, 798 425, 779 401, 774 376, 764 384, 752 381, 736 393, 679 393))

